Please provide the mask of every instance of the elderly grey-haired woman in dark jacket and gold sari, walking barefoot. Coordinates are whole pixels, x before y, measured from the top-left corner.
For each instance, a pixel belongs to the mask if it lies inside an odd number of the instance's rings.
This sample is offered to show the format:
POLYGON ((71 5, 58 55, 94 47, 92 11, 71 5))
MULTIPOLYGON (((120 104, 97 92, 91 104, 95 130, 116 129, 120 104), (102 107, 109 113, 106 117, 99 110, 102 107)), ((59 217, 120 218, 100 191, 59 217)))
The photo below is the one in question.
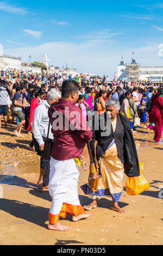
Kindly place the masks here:
POLYGON ((117 100, 110 99, 106 102, 106 112, 98 115, 99 119, 93 121, 93 137, 90 146, 95 156, 94 144, 97 141, 96 156, 102 178, 99 179, 96 191, 92 191, 89 184, 81 187, 84 193, 92 199, 89 205, 84 206, 86 210, 96 208, 97 199, 109 195, 112 197, 111 210, 124 213, 125 211, 118 206, 123 191, 123 174, 130 177, 140 175, 139 160, 130 123, 128 118, 119 112, 120 108, 117 100), (97 129, 96 122, 99 122, 99 129, 97 129))

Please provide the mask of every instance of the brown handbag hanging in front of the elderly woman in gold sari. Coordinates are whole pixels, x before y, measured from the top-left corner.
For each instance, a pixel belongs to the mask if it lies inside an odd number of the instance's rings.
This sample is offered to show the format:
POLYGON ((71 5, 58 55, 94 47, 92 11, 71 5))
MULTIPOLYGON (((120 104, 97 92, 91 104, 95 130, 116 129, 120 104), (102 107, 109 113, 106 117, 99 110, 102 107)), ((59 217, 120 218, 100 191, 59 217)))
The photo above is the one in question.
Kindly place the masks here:
POLYGON ((96 158, 96 145, 97 141, 94 144, 94 151, 95 151, 95 162, 93 161, 93 156, 92 156, 92 151, 90 148, 89 142, 87 142, 87 148, 89 150, 89 155, 90 155, 90 174, 89 174, 89 186, 93 192, 95 192, 98 188, 99 184, 99 179, 102 177, 102 175, 99 175, 99 167, 98 167, 98 162, 96 158))

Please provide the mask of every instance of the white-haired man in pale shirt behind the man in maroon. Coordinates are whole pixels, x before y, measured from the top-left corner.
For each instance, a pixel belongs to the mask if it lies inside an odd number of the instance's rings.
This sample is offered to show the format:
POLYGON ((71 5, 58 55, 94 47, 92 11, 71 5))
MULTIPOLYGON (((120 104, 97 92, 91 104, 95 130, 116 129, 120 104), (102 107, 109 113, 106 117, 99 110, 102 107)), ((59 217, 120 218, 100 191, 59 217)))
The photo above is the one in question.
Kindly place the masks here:
POLYGON ((37 155, 41 156, 40 160, 40 177, 37 181, 37 189, 43 191, 43 188, 48 188, 49 182, 49 160, 45 150, 51 149, 53 143, 52 126, 49 124, 48 109, 56 101, 58 101, 60 93, 56 89, 51 89, 47 94, 47 99, 42 100, 39 106, 36 107, 32 124, 33 143, 37 155), (45 147, 46 144, 46 147, 45 147), (48 144, 48 147, 47 147, 48 144), (45 147, 45 150, 43 150, 45 147))

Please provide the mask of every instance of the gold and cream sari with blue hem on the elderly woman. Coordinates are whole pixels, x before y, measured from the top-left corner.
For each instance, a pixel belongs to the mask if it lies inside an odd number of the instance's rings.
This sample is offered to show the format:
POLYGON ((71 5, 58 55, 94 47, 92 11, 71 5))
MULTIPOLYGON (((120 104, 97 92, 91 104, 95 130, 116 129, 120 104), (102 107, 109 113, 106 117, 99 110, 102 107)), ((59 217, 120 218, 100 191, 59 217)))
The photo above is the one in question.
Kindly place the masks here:
MULTIPOLYGON (((112 121, 112 128, 115 132, 117 119, 112 121)), ((111 196, 114 202, 118 202, 123 191, 122 179, 124 168, 117 157, 115 139, 112 140, 104 155, 99 157, 102 178, 99 180, 97 191, 93 192, 89 184, 81 186, 85 194, 91 199, 101 199, 103 196, 111 196)))

